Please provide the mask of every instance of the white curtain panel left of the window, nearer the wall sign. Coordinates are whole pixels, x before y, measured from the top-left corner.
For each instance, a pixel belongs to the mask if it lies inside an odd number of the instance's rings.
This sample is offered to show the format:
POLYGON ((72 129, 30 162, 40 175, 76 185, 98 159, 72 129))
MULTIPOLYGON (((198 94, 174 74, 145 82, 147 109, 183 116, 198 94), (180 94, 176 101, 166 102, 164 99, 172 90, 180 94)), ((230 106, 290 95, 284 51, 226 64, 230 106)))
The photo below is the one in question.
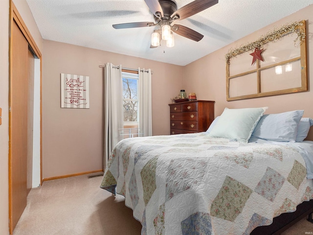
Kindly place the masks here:
POLYGON ((116 67, 107 63, 104 70, 104 169, 123 128, 122 66, 116 67))

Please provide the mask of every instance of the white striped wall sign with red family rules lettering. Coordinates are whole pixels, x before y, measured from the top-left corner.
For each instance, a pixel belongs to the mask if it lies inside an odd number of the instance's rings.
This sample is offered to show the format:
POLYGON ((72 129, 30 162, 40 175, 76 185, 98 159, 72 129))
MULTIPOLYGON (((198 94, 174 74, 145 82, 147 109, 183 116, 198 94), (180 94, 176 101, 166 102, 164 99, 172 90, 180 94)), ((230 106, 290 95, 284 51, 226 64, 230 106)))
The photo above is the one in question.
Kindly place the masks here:
POLYGON ((61 108, 89 109, 89 76, 61 73, 61 108))

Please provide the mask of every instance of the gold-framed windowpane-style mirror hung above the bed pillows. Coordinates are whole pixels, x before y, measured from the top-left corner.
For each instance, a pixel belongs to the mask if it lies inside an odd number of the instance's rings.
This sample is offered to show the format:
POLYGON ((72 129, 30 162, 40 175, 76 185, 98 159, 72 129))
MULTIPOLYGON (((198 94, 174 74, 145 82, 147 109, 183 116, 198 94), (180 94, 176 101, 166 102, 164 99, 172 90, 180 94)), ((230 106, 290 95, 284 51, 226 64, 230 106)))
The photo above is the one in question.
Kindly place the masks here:
POLYGON ((308 91, 305 36, 306 26, 303 20, 268 32, 265 36, 262 36, 253 43, 230 50, 225 55, 226 100, 231 101, 308 91), (283 53, 283 50, 285 50, 284 42, 288 42, 288 47, 292 45, 293 48, 290 49, 293 50, 293 56, 287 59, 286 57, 282 57, 277 62, 269 62, 269 57, 271 57, 269 55, 283 53), (277 45, 277 43, 281 43, 281 45, 277 45), (278 49, 276 49, 276 47, 278 49), (262 53, 264 62, 257 59, 251 66, 247 66, 246 62, 249 59, 249 61, 252 61, 252 56, 249 54, 252 53, 255 48, 264 49, 262 53), (281 49, 281 51, 277 51, 279 49, 281 49), (241 61, 245 63, 245 68, 241 68, 241 61), (232 62, 235 69, 231 67, 232 62), (236 64, 239 64, 239 66, 237 66, 239 70, 236 69, 236 64), (287 74, 287 68, 286 74, 277 75, 279 74, 277 73, 277 68, 279 69, 279 67, 282 68, 283 66, 292 68, 292 64, 295 68, 292 75, 287 74))

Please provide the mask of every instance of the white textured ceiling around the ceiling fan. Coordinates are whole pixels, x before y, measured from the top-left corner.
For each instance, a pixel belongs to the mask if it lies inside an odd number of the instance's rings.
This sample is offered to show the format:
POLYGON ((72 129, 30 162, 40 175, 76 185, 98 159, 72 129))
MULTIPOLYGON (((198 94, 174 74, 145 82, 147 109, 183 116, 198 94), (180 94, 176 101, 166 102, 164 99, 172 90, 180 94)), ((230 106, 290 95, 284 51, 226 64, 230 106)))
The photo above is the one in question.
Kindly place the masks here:
MULTIPOLYGON (((176 0, 178 9, 191 1, 176 0)), ((175 47, 171 48, 164 43, 150 48, 151 34, 157 26, 112 27, 154 22, 144 0, 27 2, 44 39, 184 66, 312 4, 313 0, 219 0, 208 9, 175 22, 203 34, 203 39, 195 42, 175 34, 175 47)))

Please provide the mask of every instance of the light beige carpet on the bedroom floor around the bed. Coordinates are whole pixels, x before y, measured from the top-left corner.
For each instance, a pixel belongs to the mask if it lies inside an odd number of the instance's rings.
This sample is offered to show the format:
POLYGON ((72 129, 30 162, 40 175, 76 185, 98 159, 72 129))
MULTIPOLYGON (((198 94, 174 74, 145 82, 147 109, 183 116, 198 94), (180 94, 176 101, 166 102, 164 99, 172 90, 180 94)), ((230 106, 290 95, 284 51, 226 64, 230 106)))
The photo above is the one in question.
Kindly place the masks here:
MULTIPOLYGON (((141 225, 124 197, 99 188, 102 176, 69 177, 31 189, 13 235, 140 235, 141 225)), ((302 219, 282 235, 313 234, 302 219)))

